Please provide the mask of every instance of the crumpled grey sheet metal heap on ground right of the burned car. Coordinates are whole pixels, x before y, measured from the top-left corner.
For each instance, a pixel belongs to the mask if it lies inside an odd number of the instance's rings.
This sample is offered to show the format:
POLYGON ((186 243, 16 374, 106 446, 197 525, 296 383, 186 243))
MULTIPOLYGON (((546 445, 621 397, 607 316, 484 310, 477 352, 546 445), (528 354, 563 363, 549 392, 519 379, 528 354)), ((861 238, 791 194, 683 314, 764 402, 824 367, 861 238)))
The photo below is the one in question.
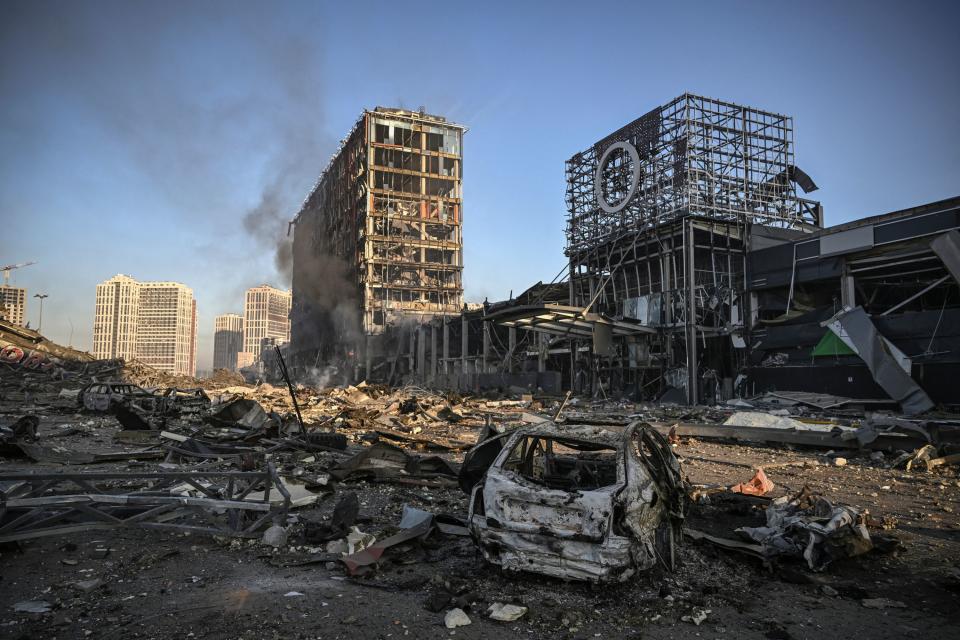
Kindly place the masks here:
POLYGON ((792 499, 783 496, 767 507, 763 527, 737 529, 762 545, 768 557, 803 558, 814 571, 835 560, 870 551, 873 542, 864 516, 856 509, 834 505, 804 488, 792 499))

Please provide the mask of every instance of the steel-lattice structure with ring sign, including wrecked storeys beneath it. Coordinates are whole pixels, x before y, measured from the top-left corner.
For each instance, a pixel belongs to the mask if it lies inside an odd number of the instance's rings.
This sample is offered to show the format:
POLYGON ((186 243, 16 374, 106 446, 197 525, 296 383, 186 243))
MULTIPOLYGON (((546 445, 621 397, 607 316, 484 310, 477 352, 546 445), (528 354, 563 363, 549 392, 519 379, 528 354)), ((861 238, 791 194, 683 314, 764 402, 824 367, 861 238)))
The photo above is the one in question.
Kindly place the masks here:
POLYGON ((691 403, 704 373, 733 373, 729 340, 706 339, 742 327, 751 228, 822 225, 797 195, 816 185, 794 164, 792 118, 692 94, 575 154, 566 177, 570 304, 658 333, 592 371, 639 370, 643 386, 651 370, 691 403))

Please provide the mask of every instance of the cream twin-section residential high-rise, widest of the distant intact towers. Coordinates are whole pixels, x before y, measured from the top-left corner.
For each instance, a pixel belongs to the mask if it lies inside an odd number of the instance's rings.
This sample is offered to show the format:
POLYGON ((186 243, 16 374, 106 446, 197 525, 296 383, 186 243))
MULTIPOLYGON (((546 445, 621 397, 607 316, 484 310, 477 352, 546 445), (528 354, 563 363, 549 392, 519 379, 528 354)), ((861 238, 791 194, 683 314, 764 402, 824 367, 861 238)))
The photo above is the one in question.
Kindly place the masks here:
POLYGON ((179 282, 117 275, 97 285, 93 354, 136 359, 177 375, 197 369, 197 303, 179 282))

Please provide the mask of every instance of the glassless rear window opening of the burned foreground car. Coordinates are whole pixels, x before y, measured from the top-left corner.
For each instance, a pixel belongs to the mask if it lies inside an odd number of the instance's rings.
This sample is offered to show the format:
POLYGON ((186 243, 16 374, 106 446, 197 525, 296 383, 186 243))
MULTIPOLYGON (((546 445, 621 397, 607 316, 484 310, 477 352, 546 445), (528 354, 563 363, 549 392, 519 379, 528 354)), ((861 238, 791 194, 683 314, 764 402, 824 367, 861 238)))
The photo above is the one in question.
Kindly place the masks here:
POLYGON ((510 451, 503 469, 548 489, 593 491, 616 484, 616 453, 613 446, 527 436, 510 451))

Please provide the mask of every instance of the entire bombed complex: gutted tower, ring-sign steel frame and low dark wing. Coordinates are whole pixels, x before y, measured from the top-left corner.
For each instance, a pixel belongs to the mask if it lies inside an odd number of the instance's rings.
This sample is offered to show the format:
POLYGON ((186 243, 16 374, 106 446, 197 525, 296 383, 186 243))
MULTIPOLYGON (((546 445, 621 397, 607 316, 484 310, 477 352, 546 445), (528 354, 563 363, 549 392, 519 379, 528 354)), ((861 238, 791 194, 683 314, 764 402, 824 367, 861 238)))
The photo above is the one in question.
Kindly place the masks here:
POLYGON ((960 198, 825 226, 793 118, 684 94, 566 161, 565 277, 462 302, 462 136, 364 112, 297 215, 294 361, 711 403, 952 402, 960 198))

